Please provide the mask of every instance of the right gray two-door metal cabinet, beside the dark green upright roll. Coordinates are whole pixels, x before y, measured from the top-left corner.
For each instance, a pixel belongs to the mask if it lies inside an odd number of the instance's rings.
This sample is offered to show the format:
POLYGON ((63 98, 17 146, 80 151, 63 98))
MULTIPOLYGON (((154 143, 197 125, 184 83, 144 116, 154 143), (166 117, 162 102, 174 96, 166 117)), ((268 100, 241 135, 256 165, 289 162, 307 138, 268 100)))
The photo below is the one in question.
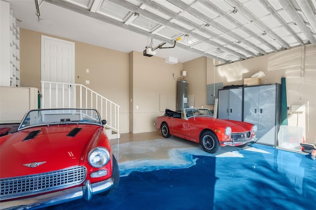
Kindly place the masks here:
POLYGON ((281 117, 281 85, 244 87, 243 102, 243 121, 258 126, 257 143, 277 146, 281 117))

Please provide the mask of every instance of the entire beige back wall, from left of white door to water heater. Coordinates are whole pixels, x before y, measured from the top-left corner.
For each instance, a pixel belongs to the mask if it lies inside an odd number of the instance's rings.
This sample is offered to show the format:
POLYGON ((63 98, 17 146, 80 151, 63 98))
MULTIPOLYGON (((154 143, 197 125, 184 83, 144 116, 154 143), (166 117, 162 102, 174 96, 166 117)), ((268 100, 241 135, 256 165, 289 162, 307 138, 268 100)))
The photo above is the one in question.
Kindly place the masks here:
MULTIPOLYGON (((41 35, 20 29, 21 86, 40 90, 41 35)), ((76 84, 82 84, 120 106, 120 133, 156 131, 154 120, 164 109, 175 109, 176 80, 182 63, 164 63, 142 53, 123 53, 74 40, 76 84), (89 69, 89 73, 86 73, 89 69), (85 84, 89 80, 90 84, 85 84), (138 109, 136 108, 138 106, 138 109)))

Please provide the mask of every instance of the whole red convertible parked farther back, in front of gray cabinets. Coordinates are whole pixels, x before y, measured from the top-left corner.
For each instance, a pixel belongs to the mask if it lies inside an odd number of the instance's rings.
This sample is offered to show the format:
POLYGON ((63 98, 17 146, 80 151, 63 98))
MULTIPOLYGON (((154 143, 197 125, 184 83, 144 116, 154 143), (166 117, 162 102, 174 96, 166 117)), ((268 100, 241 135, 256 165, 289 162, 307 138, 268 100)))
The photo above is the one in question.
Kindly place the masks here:
POLYGON ((221 146, 245 147, 256 141, 256 125, 216 119, 205 108, 188 108, 181 112, 166 109, 164 116, 156 118, 155 124, 164 138, 174 135, 200 143, 203 150, 210 153, 218 152, 221 146))

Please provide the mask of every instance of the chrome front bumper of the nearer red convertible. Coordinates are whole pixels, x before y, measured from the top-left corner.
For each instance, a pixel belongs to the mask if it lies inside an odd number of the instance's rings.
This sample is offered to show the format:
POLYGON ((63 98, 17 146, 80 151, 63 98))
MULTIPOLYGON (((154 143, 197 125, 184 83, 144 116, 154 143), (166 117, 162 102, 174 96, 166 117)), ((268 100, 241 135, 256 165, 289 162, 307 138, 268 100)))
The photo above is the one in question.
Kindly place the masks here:
POLYGON ((89 201, 91 200, 92 195, 107 191, 108 189, 111 189, 112 185, 112 178, 93 184, 91 184, 89 180, 86 180, 83 183, 83 186, 20 200, 1 202, 0 210, 40 209, 80 198, 89 201))

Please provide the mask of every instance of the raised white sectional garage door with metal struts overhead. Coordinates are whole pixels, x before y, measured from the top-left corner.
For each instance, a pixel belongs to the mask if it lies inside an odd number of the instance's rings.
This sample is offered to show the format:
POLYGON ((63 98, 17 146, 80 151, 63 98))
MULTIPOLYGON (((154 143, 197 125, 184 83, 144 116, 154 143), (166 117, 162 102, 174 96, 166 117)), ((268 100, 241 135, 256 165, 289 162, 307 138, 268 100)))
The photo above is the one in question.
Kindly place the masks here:
POLYGON ((316 0, 44 1, 223 63, 316 44, 316 0))

